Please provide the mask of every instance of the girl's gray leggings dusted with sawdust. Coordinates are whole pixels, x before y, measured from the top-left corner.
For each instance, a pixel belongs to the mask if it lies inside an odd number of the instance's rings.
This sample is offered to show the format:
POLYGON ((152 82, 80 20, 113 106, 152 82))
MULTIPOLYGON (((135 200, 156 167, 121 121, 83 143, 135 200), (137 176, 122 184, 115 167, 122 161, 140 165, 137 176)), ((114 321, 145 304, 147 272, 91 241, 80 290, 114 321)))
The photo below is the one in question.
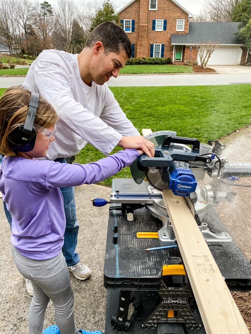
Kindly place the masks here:
POLYGON ((50 299, 61 334, 77 334, 73 314, 74 295, 63 253, 49 260, 38 261, 22 256, 12 246, 12 255, 18 271, 31 280, 33 287, 28 315, 29 334, 43 333, 45 311, 50 299))

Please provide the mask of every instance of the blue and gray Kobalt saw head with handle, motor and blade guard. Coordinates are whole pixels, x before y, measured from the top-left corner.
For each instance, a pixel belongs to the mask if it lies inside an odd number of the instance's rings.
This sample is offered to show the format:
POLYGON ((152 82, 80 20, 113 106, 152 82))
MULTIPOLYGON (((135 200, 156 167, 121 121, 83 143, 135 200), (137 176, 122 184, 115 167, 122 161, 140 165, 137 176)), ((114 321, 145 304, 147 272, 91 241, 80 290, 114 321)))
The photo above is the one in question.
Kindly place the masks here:
POLYGON ((131 174, 138 184, 147 177, 158 190, 171 189, 176 196, 189 196, 197 187, 190 162, 212 162, 210 157, 200 156, 199 150, 200 143, 195 138, 166 135, 155 148, 153 158, 142 154, 131 165, 131 174))

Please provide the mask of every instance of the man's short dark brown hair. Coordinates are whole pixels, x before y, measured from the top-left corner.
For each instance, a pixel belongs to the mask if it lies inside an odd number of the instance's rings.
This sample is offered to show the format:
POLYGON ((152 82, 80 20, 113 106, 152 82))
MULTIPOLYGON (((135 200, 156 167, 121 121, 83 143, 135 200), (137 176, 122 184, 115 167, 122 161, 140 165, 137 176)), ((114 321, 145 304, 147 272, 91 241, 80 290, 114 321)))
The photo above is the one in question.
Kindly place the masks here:
POLYGON ((90 33, 85 47, 92 47, 97 41, 101 41, 104 46, 104 54, 109 52, 119 53, 125 50, 128 58, 132 56, 132 44, 127 33, 116 23, 104 22, 99 24, 90 33))

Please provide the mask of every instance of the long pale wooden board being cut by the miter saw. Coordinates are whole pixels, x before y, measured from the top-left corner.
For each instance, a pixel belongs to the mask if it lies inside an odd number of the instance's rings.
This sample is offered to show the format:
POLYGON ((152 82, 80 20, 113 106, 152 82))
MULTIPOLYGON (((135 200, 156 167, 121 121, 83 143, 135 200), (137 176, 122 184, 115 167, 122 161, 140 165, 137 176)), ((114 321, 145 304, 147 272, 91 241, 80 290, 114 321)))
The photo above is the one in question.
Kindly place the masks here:
POLYGON ((184 197, 171 190, 162 196, 206 333, 249 334, 184 197))

